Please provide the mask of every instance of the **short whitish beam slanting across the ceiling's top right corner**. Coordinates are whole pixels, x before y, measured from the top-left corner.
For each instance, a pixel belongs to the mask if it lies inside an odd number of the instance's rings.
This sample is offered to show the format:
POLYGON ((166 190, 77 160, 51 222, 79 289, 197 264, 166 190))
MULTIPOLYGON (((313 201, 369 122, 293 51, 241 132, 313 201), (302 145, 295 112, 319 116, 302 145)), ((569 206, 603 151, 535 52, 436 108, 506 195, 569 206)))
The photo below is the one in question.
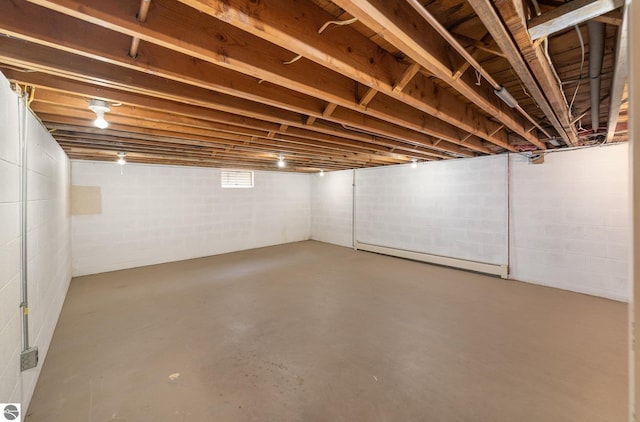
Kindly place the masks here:
POLYGON ((529 21, 531 40, 546 37, 619 8, 624 0, 572 0, 529 21))

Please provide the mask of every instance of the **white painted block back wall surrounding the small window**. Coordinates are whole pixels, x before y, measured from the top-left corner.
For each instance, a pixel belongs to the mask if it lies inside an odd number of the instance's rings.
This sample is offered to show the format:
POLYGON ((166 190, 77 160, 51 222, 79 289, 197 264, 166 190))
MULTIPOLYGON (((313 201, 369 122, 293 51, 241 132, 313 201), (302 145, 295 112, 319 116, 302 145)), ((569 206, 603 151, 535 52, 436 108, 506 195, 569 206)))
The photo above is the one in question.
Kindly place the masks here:
POLYGON ((304 174, 256 172, 253 189, 223 189, 220 170, 72 162, 73 185, 99 186, 102 214, 72 217, 74 275, 309 238, 304 174))

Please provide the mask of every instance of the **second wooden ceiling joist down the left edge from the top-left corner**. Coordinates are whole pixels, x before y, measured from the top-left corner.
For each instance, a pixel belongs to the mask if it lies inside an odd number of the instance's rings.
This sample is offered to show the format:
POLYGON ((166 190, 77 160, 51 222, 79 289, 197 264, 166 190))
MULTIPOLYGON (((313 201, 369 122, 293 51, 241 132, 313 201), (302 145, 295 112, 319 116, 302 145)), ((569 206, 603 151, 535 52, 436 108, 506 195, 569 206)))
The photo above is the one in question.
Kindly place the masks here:
MULTIPOLYGON (((109 63, 98 62, 60 50, 52 50, 37 44, 26 45, 25 42, 13 38, 0 37, 0 62, 83 82, 97 83, 123 91, 138 92, 261 120, 285 122, 287 125, 304 127, 304 117, 300 113, 273 108, 258 102, 212 92, 177 81, 167 81, 148 73, 127 71, 127 69, 109 63), (24 53, 25 49, 28 50, 29 54, 24 53)), ((322 105, 318 105, 318 109, 317 114, 321 116, 322 105)), ((370 116, 350 110, 343 110, 340 119, 336 118, 335 115, 332 116, 332 120, 341 125, 358 128, 370 133, 376 132, 376 129, 372 129, 373 127, 381 127, 384 130, 378 133, 379 136, 391 137, 434 148, 432 147, 434 143, 433 137, 405 127, 377 121, 377 119, 370 116)), ((454 154, 460 152, 459 148, 450 143, 448 145, 439 144, 434 149, 449 151, 454 154)), ((464 152, 462 153, 464 154, 464 152)))

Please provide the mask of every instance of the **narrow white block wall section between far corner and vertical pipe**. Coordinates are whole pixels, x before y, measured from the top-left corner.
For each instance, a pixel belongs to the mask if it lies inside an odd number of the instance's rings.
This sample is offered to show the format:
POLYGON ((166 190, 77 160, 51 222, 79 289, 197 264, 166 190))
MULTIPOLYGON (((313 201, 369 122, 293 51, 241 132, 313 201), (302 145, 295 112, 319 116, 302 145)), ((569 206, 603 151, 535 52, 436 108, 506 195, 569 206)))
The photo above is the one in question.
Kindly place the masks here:
POLYGON ((311 177, 311 239, 353 246, 353 170, 311 177))

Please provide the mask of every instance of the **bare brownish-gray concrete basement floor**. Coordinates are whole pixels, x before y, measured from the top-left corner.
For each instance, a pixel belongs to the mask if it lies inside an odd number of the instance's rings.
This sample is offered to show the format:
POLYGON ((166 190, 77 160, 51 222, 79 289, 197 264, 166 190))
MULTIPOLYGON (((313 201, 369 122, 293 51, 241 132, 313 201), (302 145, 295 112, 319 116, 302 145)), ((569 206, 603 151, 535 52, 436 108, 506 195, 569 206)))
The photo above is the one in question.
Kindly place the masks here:
POLYGON ((72 281, 27 421, 624 421, 627 308, 302 242, 72 281))

